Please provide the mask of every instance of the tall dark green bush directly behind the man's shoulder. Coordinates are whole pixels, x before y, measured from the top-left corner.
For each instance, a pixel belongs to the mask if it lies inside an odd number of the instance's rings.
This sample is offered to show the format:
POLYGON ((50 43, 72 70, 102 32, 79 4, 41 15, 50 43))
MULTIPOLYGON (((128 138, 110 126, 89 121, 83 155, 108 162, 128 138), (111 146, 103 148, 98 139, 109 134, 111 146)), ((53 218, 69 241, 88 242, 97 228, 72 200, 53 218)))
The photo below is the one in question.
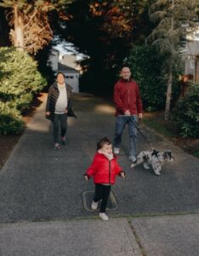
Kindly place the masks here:
MULTIPOLYGON (((130 52, 127 63, 134 79, 139 83, 145 110, 163 109, 166 101, 167 80, 162 75, 164 57, 154 46, 136 46, 130 52)), ((178 96, 179 86, 174 75, 173 100, 178 96)))

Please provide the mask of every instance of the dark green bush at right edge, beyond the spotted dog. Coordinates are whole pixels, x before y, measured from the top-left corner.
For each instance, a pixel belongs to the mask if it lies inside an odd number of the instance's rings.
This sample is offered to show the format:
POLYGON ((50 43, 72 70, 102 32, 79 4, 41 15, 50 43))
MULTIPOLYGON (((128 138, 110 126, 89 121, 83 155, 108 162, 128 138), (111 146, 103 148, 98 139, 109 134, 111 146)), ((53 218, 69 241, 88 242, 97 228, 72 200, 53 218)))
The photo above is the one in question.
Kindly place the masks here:
POLYGON ((199 137, 199 84, 193 84, 173 111, 183 137, 199 137))

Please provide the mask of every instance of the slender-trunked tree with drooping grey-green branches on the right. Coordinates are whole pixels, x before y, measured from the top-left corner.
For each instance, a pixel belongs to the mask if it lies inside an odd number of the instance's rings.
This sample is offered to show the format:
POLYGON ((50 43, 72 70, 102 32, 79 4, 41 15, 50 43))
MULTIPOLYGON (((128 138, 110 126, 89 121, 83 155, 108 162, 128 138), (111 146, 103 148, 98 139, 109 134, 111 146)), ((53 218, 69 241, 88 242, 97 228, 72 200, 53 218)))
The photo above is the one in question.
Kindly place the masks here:
POLYGON ((164 119, 168 120, 173 71, 179 68, 180 62, 180 39, 196 27, 196 0, 156 0, 151 4, 149 14, 156 27, 147 42, 156 45, 165 56, 164 72, 168 82, 164 119))

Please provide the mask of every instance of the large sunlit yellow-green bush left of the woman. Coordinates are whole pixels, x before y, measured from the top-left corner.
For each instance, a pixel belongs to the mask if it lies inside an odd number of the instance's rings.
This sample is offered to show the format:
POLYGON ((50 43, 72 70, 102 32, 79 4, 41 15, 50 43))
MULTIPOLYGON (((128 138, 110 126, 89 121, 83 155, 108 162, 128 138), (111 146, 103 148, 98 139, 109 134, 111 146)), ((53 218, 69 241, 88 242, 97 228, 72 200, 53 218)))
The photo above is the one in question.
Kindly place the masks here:
POLYGON ((3 47, 0 60, 0 133, 16 134, 24 127, 20 114, 30 107, 46 80, 26 52, 3 47))

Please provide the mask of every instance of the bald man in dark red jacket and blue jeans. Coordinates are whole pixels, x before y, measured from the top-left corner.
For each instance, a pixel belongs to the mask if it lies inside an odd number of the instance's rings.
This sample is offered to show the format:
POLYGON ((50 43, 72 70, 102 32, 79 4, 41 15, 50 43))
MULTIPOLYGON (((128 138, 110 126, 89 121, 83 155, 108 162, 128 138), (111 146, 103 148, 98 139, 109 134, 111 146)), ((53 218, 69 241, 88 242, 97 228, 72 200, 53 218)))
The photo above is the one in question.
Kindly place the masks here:
POLYGON ((137 125, 138 119, 142 119, 142 102, 138 84, 131 79, 128 66, 122 67, 122 79, 114 88, 114 103, 116 106, 116 130, 114 138, 114 153, 119 154, 122 143, 122 131, 128 124, 129 132, 129 160, 136 162, 137 155, 137 125), (135 125, 134 125, 135 124, 135 125))

